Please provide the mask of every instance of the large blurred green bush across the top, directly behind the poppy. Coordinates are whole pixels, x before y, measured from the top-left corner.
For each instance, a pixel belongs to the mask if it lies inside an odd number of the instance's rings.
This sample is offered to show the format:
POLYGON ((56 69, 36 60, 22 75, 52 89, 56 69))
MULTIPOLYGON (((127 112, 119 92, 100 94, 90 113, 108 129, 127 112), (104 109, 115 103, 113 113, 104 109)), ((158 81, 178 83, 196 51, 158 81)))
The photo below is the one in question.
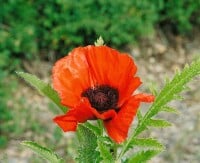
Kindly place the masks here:
POLYGON ((50 59, 102 35, 124 46, 153 31, 157 2, 116 0, 0 1, 0 51, 13 57, 50 59))

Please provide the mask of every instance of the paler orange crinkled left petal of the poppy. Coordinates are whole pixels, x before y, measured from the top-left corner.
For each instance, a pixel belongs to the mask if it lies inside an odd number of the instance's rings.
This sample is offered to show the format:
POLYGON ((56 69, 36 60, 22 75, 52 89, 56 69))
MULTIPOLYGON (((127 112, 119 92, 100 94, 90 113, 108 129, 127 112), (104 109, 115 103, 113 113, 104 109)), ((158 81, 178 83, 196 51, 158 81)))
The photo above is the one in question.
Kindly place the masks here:
POLYGON ((53 87, 65 106, 74 107, 79 103, 83 90, 93 86, 86 53, 86 48, 76 48, 53 67, 53 87))

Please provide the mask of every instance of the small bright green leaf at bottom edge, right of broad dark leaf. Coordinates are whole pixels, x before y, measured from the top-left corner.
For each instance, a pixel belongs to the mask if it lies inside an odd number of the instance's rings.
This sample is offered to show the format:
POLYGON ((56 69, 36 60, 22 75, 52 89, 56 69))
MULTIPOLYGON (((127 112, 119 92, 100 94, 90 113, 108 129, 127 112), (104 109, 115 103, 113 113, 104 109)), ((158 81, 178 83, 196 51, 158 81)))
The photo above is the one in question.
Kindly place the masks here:
POLYGON ((110 148, 107 144, 103 143, 102 141, 98 140, 98 151, 102 157, 102 163, 112 163, 114 162, 112 153, 110 152, 110 148))

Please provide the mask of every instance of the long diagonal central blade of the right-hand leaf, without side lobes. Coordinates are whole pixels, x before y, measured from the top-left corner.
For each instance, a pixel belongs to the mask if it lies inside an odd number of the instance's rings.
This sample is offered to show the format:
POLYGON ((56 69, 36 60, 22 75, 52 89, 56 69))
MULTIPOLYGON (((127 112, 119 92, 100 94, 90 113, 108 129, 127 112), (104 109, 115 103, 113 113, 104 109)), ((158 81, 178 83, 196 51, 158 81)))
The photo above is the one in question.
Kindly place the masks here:
POLYGON ((137 135, 139 135, 142 131, 144 131, 146 125, 148 124, 147 121, 156 114, 158 114, 158 112, 162 111, 162 108, 166 106, 168 102, 172 101, 176 95, 178 95, 181 91, 183 91, 185 85, 199 74, 200 74, 200 59, 192 62, 190 66, 186 65, 181 72, 177 72, 175 74, 174 78, 164 86, 159 95, 156 97, 153 105, 144 115, 141 122, 138 123, 138 126, 134 130, 134 133, 124 143, 123 149, 119 154, 118 158, 121 158, 126 153, 129 147, 129 143, 132 141, 132 139, 134 139, 137 135))

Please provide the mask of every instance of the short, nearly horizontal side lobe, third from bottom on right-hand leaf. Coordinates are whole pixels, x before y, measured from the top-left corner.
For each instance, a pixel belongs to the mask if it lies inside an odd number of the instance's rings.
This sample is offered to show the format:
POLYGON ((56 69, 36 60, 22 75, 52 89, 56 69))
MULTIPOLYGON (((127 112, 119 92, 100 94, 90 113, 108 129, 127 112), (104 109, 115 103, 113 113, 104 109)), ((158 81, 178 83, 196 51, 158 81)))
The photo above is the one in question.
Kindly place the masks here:
POLYGON ((146 125, 152 126, 152 127, 169 127, 172 124, 166 120, 163 119, 149 119, 146 122, 146 125))

